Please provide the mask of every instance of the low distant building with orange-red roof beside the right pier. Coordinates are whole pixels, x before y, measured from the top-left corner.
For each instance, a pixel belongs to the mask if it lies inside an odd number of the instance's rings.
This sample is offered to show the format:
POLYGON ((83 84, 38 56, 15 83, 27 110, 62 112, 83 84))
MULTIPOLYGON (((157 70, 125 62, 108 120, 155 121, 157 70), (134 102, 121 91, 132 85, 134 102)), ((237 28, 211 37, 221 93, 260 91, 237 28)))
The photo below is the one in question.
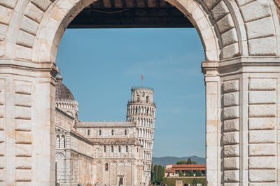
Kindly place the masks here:
POLYGON ((165 177, 179 177, 180 171, 182 171, 183 176, 186 177, 190 171, 193 171, 193 176, 191 177, 196 177, 197 171, 201 171, 204 177, 206 176, 206 164, 167 164, 165 168, 165 177))

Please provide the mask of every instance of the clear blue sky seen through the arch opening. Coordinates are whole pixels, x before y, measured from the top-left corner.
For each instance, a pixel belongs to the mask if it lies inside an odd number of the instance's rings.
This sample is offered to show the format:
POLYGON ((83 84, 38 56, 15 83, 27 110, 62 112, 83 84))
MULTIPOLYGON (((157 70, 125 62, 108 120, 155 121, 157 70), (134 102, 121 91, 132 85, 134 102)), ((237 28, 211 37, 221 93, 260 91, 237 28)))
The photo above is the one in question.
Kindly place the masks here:
POLYGON ((79 120, 125 121, 130 89, 153 87, 153 157, 205 157, 204 52, 195 29, 66 29, 57 66, 79 120))

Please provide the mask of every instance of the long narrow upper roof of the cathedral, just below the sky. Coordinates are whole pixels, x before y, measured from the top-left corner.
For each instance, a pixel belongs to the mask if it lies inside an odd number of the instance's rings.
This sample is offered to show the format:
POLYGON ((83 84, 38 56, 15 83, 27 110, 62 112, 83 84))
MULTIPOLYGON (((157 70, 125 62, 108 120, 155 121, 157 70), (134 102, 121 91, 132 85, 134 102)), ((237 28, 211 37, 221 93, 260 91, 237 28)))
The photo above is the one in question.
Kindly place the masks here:
POLYGON ((136 127, 135 122, 78 122, 75 127, 136 127))

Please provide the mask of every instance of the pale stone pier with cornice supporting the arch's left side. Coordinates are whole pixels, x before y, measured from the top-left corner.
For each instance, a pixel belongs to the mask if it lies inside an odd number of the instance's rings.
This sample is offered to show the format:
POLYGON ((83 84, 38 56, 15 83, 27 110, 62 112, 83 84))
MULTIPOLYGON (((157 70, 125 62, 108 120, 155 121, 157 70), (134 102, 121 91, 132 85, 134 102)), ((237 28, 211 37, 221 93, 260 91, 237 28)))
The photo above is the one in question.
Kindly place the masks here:
POLYGON ((0 183, 54 185, 56 67, 0 60, 0 183))

